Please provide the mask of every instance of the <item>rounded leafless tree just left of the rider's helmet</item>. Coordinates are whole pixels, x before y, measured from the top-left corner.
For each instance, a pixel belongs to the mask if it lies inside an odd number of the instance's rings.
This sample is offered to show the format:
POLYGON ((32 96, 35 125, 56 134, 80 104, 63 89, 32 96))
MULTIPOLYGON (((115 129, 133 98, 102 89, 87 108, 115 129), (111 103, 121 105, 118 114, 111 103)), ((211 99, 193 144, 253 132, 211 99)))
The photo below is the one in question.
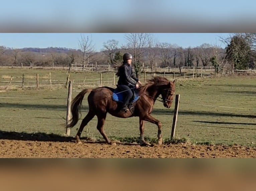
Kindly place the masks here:
POLYGON ((115 54, 117 52, 117 46, 118 46, 118 41, 117 40, 108 40, 107 42, 103 43, 103 49, 101 51, 109 57, 110 59, 110 64, 114 65, 114 60, 115 60, 115 54))

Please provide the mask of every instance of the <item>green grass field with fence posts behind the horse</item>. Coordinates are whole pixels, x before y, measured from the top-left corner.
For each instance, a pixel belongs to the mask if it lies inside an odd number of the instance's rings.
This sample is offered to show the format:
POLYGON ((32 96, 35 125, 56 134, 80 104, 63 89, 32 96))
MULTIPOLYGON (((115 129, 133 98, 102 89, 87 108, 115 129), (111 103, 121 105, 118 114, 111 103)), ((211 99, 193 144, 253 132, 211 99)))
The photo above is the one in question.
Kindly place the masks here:
MULTIPOLYGON (((24 73, 27 79, 35 79, 36 73, 39 73, 40 76, 46 78, 49 72, 54 80, 67 78, 67 71, 61 70, 3 68, 0 69, 0 77, 1 81, 11 76, 21 80, 24 73)), ((82 80, 85 75, 87 79, 93 79, 99 78, 100 73, 71 73, 70 78, 82 80)), ((103 73, 102 78, 108 81, 113 76, 114 73, 103 73)), ((255 146, 256 78, 177 79, 176 82, 175 93, 180 94, 176 138, 185 138, 194 143, 255 146)), ((112 83, 107 85, 114 86, 112 83)), ((74 86, 74 89, 81 90, 82 87, 81 85, 74 86)), ((79 93, 75 90, 73 90, 73 98, 79 93)), ((38 90, 16 87, 1 91, 0 130, 64 135, 66 130, 60 124, 65 123, 63 118, 66 118, 67 94, 67 89, 63 87, 38 90)), ((86 98, 83 101, 85 107, 82 112, 83 117, 88 111, 86 98)), ((167 109, 160 102, 156 102, 154 106, 153 116, 163 123, 164 138, 170 137, 173 109, 174 105, 167 109)), ((75 136, 80 123, 81 120, 71 129, 71 136, 75 136)), ((96 129, 96 124, 95 117, 85 127, 82 137, 102 138, 96 129)), ((145 135, 156 138, 157 126, 149 122, 145 125, 145 135)), ((139 120, 137 117, 121 119, 108 114, 105 131, 110 137, 139 137, 139 120)))

